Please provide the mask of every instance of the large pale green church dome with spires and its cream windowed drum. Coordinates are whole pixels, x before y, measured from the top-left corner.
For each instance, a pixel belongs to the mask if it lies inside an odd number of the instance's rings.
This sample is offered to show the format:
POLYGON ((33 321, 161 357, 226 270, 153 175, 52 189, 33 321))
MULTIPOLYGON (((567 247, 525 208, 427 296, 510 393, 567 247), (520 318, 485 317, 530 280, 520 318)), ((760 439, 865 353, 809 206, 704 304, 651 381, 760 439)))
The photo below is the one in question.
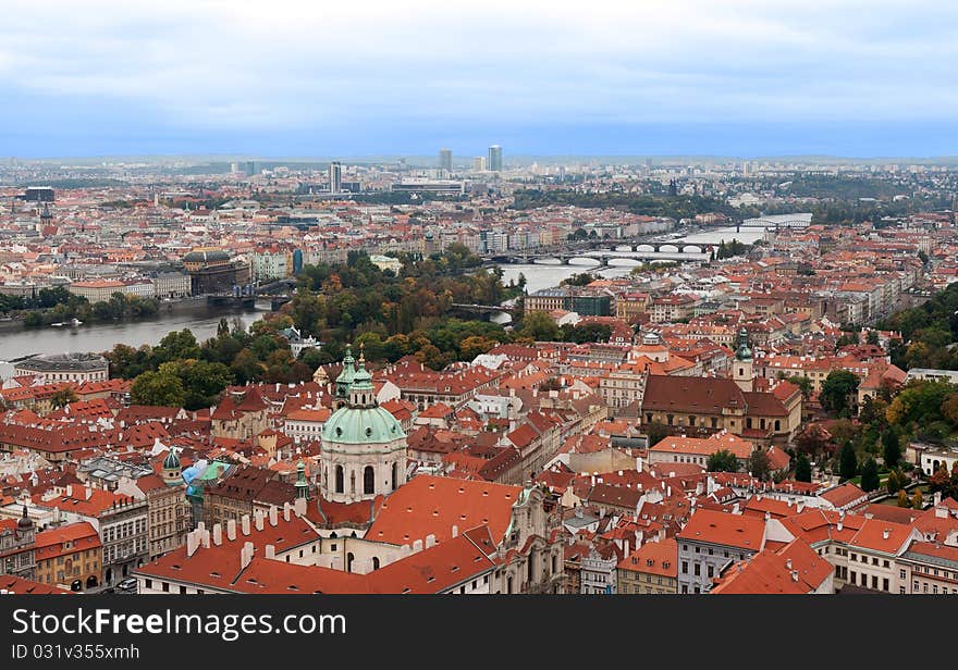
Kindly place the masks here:
POLYGON ((371 500, 406 483, 406 433, 379 407, 372 375, 349 347, 336 377, 336 410, 322 426, 320 492, 333 502, 371 500))

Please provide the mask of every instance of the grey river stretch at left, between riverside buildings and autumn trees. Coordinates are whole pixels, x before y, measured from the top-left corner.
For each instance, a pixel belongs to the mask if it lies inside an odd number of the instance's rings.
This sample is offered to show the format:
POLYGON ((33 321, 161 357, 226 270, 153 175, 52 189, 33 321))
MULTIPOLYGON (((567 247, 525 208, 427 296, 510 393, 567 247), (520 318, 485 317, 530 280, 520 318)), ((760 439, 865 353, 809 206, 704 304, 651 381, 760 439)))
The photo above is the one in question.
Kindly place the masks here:
POLYGON ((0 332, 0 377, 13 374, 11 359, 34 353, 59 353, 65 351, 108 351, 118 344, 131 347, 156 345, 170 331, 189 328, 196 339, 202 342, 217 334, 220 319, 238 317, 244 325, 260 319, 265 313, 256 309, 210 308, 205 303, 191 306, 172 313, 160 313, 153 319, 91 323, 76 327, 16 328, 0 332))

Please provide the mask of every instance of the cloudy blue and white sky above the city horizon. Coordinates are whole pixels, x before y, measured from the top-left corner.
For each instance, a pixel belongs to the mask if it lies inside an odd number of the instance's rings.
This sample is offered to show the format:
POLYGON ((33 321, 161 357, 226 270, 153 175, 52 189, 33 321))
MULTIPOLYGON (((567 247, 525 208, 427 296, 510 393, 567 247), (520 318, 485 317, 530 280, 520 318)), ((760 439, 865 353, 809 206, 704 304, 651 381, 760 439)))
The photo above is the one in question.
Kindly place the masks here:
POLYGON ((0 156, 958 156, 945 0, 30 0, 0 156))

